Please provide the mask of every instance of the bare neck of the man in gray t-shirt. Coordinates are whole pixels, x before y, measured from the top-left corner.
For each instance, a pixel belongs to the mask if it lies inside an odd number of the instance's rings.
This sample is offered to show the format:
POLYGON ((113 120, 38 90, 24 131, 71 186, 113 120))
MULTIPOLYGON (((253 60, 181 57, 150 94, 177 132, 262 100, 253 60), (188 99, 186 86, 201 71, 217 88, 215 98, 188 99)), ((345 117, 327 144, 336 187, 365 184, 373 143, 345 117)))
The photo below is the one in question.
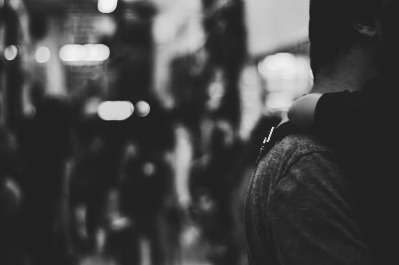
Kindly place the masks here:
POLYGON ((351 49, 340 54, 331 64, 320 69, 311 93, 329 93, 349 90, 361 90, 363 84, 377 76, 372 58, 366 47, 351 49))

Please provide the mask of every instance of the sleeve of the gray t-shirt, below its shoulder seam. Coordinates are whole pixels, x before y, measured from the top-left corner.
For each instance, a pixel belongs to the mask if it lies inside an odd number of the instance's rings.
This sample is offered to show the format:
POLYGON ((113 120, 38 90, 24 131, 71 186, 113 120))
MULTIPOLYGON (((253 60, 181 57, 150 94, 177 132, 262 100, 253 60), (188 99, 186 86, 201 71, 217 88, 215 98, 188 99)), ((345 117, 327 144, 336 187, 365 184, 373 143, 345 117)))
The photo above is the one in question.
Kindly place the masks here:
POLYGON ((347 179, 332 154, 314 152, 277 182, 264 216, 280 264, 372 264, 347 179))

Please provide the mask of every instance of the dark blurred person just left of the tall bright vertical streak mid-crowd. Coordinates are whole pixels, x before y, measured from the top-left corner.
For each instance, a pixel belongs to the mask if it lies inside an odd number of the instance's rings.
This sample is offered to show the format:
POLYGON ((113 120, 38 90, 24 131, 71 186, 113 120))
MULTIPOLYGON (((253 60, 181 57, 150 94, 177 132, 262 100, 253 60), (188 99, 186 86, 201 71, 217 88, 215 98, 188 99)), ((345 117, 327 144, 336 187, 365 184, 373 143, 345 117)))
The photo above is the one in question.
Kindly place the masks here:
POLYGON ((167 157, 174 145, 173 123, 156 102, 148 102, 150 114, 133 120, 134 132, 123 149, 121 211, 132 225, 121 234, 120 255, 122 264, 139 264, 141 242, 147 239, 151 264, 176 264, 180 212, 167 157))

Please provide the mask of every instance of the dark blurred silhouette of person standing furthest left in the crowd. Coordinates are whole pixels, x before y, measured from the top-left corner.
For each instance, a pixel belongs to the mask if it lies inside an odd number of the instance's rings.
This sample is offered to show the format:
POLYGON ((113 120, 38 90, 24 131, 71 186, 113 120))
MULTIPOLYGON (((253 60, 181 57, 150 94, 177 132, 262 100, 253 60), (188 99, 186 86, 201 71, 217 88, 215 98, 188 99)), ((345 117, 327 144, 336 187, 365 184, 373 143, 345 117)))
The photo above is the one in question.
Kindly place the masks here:
POLYGON ((24 164, 24 241, 32 265, 68 264, 73 112, 63 99, 36 92, 35 115, 18 128, 24 164))

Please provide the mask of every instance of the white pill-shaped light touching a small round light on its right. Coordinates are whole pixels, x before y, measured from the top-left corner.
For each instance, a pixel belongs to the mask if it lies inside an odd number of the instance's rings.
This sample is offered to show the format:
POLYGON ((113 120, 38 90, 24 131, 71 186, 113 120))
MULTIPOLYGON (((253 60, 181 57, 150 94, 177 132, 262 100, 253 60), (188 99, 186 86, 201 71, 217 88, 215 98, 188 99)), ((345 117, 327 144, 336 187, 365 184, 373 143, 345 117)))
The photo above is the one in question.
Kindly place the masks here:
POLYGON ((104 121, 124 121, 133 114, 134 106, 129 101, 104 101, 97 108, 104 121))

